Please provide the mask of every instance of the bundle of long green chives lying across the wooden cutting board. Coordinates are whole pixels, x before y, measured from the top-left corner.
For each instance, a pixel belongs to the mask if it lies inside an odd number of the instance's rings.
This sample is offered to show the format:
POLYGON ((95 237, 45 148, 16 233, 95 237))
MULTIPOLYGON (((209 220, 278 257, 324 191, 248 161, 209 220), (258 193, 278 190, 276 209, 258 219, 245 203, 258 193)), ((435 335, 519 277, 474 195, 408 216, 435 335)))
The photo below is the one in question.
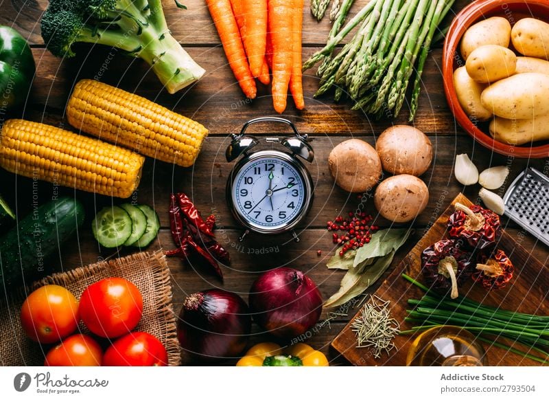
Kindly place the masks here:
MULTIPOLYGON (((420 300, 408 300, 408 304, 415 308, 407 311, 408 317, 405 320, 416 324, 416 326, 409 331, 402 331, 401 334, 416 333, 433 325, 460 326, 467 331, 482 335, 480 339, 484 341, 488 340, 485 335, 507 338, 513 342, 513 346, 506 346, 498 342, 494 344, 497 344, 498 347, 508 348, 513 353, 549 364, 549 353, 540 347, 549 346, 549 316, 489 307, 465 297, 446 300, 410 276, 402 274, 402 277, 426 293, 420 300), (528 353, 515 348, 515 344, 524 345, 528 349, 528 353), (541 357, 531 355, 530 352, 539 353, 541 357)), ((490 342, 492 343, 493 340, 490 339, 490 342)))

